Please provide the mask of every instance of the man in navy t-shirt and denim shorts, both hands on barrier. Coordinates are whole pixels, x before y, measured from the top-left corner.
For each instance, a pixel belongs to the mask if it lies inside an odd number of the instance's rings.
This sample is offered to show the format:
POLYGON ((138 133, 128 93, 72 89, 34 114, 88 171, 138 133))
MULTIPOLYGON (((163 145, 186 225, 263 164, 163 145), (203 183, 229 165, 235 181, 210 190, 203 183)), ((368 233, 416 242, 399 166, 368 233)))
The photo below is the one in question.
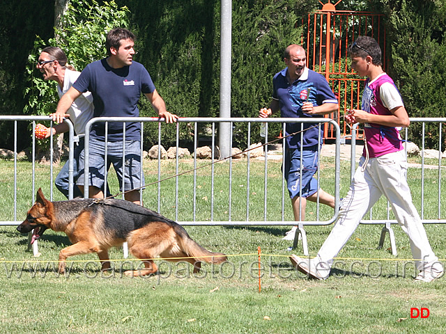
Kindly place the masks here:
MULTIPOLYGON (((95 111, 93 117, 138 117, 138 101, 144 93, 160 118, 175 122, 178 116, 166 110, 164 100, 157 93, 146 68, 133 61, 134 35, 127 29, 116 28, 109 31, 105 46, 108 57, 85 67, 79 78, 63 95, 57 105, 53 120, 62 122, 66 112, 77 97, 89 90, 93 95, 95 111)), ((105 168, 113 164, 118 181, 122 186, 124 178, 125 199, 137 204, 140 202, 139 188, 144 186, 144 173, 141 175, 141 123, 125 122, 125 166, 123 166, 123 124, 108 122, 107 165, 105 166, 105 122, 96 122, 91 127, 89 141, 89 195, 103 198, 105 168)), ((84 189, 84 157, 79 160, 77 185, 84 189)))

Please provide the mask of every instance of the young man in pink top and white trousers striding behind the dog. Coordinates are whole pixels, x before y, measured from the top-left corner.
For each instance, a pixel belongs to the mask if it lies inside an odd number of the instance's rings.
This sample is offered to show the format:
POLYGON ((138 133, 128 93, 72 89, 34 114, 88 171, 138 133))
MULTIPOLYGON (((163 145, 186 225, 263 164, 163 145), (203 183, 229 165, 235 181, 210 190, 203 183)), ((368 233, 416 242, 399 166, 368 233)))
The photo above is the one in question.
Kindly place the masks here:
POLYGON ((362 95, 362 109, 352 109, 346 115, 348 122, 364 124, 364 153, 334 228, 318 255, 311 260, 292 255, 290 260, 309 278, 328 278, 333 258, 355 232, 364 214, 384 195, 409 237, 419 271, 415 280, 431 282, 443 276, 443 265, 429 244, 406 181, 407 161, 399 127, 409 126, 408 114, 394 82, 383 71, 381 50, 376 40, 361 36, 348 51, 353 70, 368 77, 362 95))

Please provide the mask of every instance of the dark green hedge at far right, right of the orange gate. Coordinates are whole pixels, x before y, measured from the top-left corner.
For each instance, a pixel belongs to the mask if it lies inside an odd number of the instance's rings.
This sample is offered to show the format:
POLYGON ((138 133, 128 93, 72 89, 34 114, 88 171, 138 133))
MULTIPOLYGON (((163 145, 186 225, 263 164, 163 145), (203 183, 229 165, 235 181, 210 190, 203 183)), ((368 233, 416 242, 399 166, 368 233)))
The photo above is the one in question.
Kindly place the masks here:
MULTIPOLYGON (((445 117, 446 1, 381 2, 388 17, 391 75, 403 96, 409 116, 445 117)), ((425 134, 426 147, 438 149, 438 124, 426 123, 425 134)), ((445 135, 443 129, 443 138, 445 135)), ((409 137, 420 145, 421 123, 410 125, 409 137)))

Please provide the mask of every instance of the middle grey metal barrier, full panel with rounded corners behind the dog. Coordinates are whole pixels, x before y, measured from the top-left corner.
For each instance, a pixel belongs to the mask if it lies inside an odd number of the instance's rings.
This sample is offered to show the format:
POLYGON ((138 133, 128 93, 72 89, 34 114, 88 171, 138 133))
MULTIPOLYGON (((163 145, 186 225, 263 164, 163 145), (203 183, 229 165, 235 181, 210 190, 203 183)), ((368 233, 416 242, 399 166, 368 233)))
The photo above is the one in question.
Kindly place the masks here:
MULTIPOLYGON (((324 123, 331 123, 334 128, 336 129, 336 134, 337 134, 337 140, 336 140, 336 155, 334 157, 334 165, 335 165, 335 172, 334 172, 334 196, 336 198, 336 202, 339 202, 339 174, 340 174, 340 160, 339 160, 339 145, 340 145, 340 130, 339 130, 339 126, 337 125, 337 122, 330 120, 329 118, 307 118, 307 119, 298 119, 298 118, 266 118, 266 119, 261 119, 261 118, 180 118, 178 120, 178 122, 176 123, 176 125, 164 125, 164 126, 176 126, 176 159, 175 159, 175 172, 169 175, 162 175, 162 167, 161 167, 161 154, 160 154, 160 150, 161 150, 161 135, 160 135, 160 130, 161 130, 161 122, 158 118, 93 118, 92 120, 90 120, 87 124, 86 124, 86 136, 85 136, 85 149, 84 149, 84 157, 85 157, 85 161, 86 161, 86 166, 89 165, 89 157, 90 157, 90 130, 91 127, 93 126, 94 123, 96 122, 105 122, 105 136, 106 136, 106 141, 107 142, 107 129, 108 129, 108 122, 122 122, 123 123, 123 142, 125 143, 125 122, 141 122, 141 129, 143 129, 143 124, 144 122, 158 122, 158 166, 157 166, 157 180, 154 182, 157 185, 157 203, 155 204, 157 206, 157 212, 160 212, 161 214, 164 215, 168 215, 170 216, 170 218, 173 218, 171 216, 171 214, 166 214, 164 213, 164 208, 161 207, 161 202, 164 201, 166 202, 167 200, 169 200, 169 198, 166 198, 166 196, 170 196, 171 198, 171 202, 174 203, 174 207, 175 207, 175 212, 174 212, 174 219, 176 221, 178 221, 178 223, 180 223, 181 225, 298 225, 298 232, 296 233, 296 238, 295 238, 295 242, 293 244, 293 247, 296 246, 297 241, 298 241, 298 237, 300 235, 300 237, 302 237, 302 246, 304 248, 304 252, 307 254, 307 238, 306 238, 306 234, 305 234, 305 230, 304 230, 304 225, 330 225, 331 223, 333 223, 333 221, 335 220, 336 216, 337 216, 337 212, 338 212, 338 207, 336 206, 336 208, 333 210, 332 215, 329 217, 326 217, 325 220, 321 218, 320 216, 320 209, 319 209, 319 201, 318 201, 318 195, 317 195, 317 202, 316 202, 316 220, 314 221, 298 221, 297 223, 294 221, 294 219, 292 220, 286 220, 285 219, 285 193, 286 191, 286 186, 285 186, 285 181, 284 181, 284 176, 282 174, 282 185, 281 185, 281 189, 282 189, 282 194, 281 194, 281 202, 282 202, 282 206, 277 209, 278 214, 276 214, 275 216, 281 216, 281 218, 277 219, 272 219, 272 218, 268 218, 268 181, 270 181, 270 177, 268 177, 268 145, 266 145, 266 149, 264 152, 265 155, 265 164, 264 164, 264 176, 263 176, 263 182, 264 182, 264 188, 263 188, 263 217, 259 218, 259 216, 257 216, 256 218, 252 218, 252 216, 250 215, 250 202, 252 202, 251 197, 252 194, 250 193, 250 177, 251 177, 251 159, 250 159, 250 151, 247 150, 246 152, 246 193, 245 196, 243 196, 242 198, 242 202, 245 203, 245 212, 244 212, 244 217, 242 218, 242 216, 240 216, 240 214, 233 214, 233 157, 229 157, 228 159, 224 159, 227 160, 228 164, 229 164, 229 169, 227 170, 227 174, 226 177, 228 179, 228 182, 226 184, 226 186, 228 186, 227 189, 227 198, 226 198, 226 207, 224 207, 225 212, 227 213, 226 217, 222 217, 222 215, 220 214, 219 217, 215 217, 215 207, 219 207, 219 210, 221 210, 221 207, 223 206, 221 202, 218 202, 216 204, 216 196, 215 196, 215 189, 217 189, 218 186, 215 185, 215 163, 217 162, 221 162, 215 159, 215 150, 216 150, 216 136, 215 136, 215 130, 216 130, 216 125, 220 125, 222 123, 229 123, 231 129, 233 129, 233 125, 238 123, 238 122, 244 122, 247 123, 247 142, 245 143, 245 147, 249 148, 252 143, 251 143, 251 125, 253 123, 259 123, 259 122, 263 122, 266 123, 266 137, 265 137, 265 143, 263 143, 263 145, 265 145, 266 143, 268 143, 268 124, 271 123, 281 123, 282 124, 282 132, 285 133, 285 125, 288 122, 293 122, 293 123, 300 123, 300 127, 301 127, 301 131, 304 131, 304 125, 306 123, 312 123, 314 124, 316 122, 316 124, 314 125, 315 127, 321 127, 323 126, 324 123), (192 173, 192 177, 193 177, 193 181, 192 181, 192 202, 190 203, 190 208, 192 209, 192 215, 190 216, 189 219, 184 219, 185 216, 187 216, 185 214, 185 212, 181 212, 181 215, 179 215, 178 213, 178 207, 181 206, 180 204, 180 196, 179 196, 179 182, 180 182, 180 174, 183 175, 183 172, 180 172, 179 170, 179 164, 180 164, 180 159, 178 159, 178 149, 179 149, 179 129, 180 129, 180 123, 182 122, 187 122, 189 124, 193 125, 193 145, 194 145, 194 154, 193 154, 193 166, 192 168, 190 168, 190 173, 192 173), (199 187, 199 185, 197 184, 197 165, 198 165, 198 159, 197 159, 197 148, 199 145, 199 131, 198 131, 198 125, 200 124, 201 127, 203 127, 203 123, 206 123, 206 126, 208 127, 208 129, 210 129, 211 132, 211 136, 210 136, 210 146, 211 146, 211 154, 210 154, 210 164, 209 164, 209 168, 210 168, 210 189, 209 189, 209 193, 208 193, 208 200, 210 202, 210 205, 208 206, 208 218, 206 218, 205 220, 200 219, 199 217, 197 217, 197 200, 199 199, 197 196, 197 189, 199 187), (166 193, 163 193, 163 196, 161 196, 161 189, 162 189, 162 183, 163 183, 163 179, 165 177, 174 177, 175 179, 175 190, 173 189, 169 189, 169 195, 166 195, 166 193), (162 198, 163 197, 163 198, 162 198), (237 220, 233 219, 233 215, 237 216, 237 220), (181 217, 180 217, 181 216, 181 217), (179 219, 182 218, 183 219, 179 219), (241 218, 241 219, 240 219, 241 218)), ((143 138, 144 138, 144 132, 141 131, 141 152, 142 152, 142 142, 143 142, 143 138)), ((231 138, 233 138, 233 134, 231 133, 231 138)), ((275 139, 275 138, 274 138, 275 139)), ((321 137, 319 138, 319 140, 321 141, 321 137)), ((276 141, 276 139, 275 139, 276 141)), ((285 138, 279 139, 278 140, 279 143, 283 146, 284 145, 284 141, 285 138)), ((105 145, 105 144, 104 144, 105 145)), ((230 147, 232 148, 232 143, 230 145, 230 147)), ((105 145, 104 148, 105 152, 107 152, 107 145, 105 145)), ((319 148, 320 150, 320 148, 319 148)), ((125 144, 124 144, 124 148, 123 148, 123 159, 125 159, 125 144)), ((282 160, 285 159, 285 152, 282 150, 282 160)), ((105 153, 105 156, 107 155, 107 153, 105 153)), ((320 154, 319 154, 320 157, 320 154)), ((124 164, 124 161, 123 161, 124 164)), ((319 161, 318 161, 319 164, 319 161)), ((107 162, 106 162, 106 166, 107 166, 107 162)), ((86 169, 87 170, 87 169, 86 169)), ((318 170, 318 173, 320 173, 320 170, 318 170)), ((318 175, 319 176, 319 175, 318 175)), ((105 176, 105 180, 107 180, 107 175, 105 176)), ((317 177, 317 180, 319 182, 319 177, 317 177)), ((146 179, 146 183, 147 183, 147 179, 146 179)), ((84 184, 89 184, 89 173, 85 173, 84 174, 84 184)), ((153 186, 153 184, 151 184, 151 186, 153 186)), ((245 186, 245 185, 243 185, 245 186)), ((222 191, 222 189, 217 189, 219 191, 222 191)), ((151 191, 150 189, 147 189, 146 191, 151 191)), ((89 196, 89 190, 88 187, 84 187, 84 196, 88 197, 89 196)), ((207 196, 206 196, 207 198, 207 196)), ((142 200, 142 194, 140 195, 140 200, 142 200)), ((146 203, 144 203, 145 205, 146 203)), ((238 200, 238 211, 240 211, 240 200, 238 200)), ((203 215, 200 215, 203 216, 203 215)), ((271 215, 270 215, 271 216, 271 215)))

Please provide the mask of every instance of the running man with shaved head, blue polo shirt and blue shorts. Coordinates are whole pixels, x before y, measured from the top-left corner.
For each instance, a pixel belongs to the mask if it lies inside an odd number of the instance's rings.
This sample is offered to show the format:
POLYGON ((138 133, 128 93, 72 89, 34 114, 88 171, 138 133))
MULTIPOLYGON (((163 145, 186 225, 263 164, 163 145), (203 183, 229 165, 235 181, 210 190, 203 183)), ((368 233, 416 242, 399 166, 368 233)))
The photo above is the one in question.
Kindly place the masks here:
MULTIPOLYGON (((289 45, 284 52, 286 68, 272 79, 270 107, 261 109, 259 116, 266 118, 277 111, 286 118, 312 118, 337 111, 338 102, 325 78, 306 66, 307 54, 300 45, 289 45)), ((312 123, 286 124, 284 175, 288 185, 295 221, 305 220, 307 200, 334 207, 334 197, 318 189, 314 174, 318 168, 318 146, 322 133, 312 123), (296 134, 293 134, 296 133, 296 134), (292 136, 288 136, 293 134, 292 136), (300 148, 302 145, 302 164, 300 148), (302 188, 302 193, 300 189, 302 188)), ((286 232, 285 240, 293 240, 296 226, 286 232)))

